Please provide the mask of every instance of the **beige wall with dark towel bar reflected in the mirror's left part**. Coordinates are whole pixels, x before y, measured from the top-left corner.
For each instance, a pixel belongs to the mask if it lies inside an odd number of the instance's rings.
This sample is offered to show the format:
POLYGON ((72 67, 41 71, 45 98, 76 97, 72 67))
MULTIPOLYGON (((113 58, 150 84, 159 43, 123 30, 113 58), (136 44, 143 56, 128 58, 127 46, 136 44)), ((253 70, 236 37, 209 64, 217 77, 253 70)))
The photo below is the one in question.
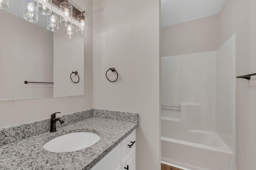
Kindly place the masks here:
POLYGON ((52 32, 4 10, 0 21, 0 101, 52 97, 52 84, 24 84, 53 82, 52 32))

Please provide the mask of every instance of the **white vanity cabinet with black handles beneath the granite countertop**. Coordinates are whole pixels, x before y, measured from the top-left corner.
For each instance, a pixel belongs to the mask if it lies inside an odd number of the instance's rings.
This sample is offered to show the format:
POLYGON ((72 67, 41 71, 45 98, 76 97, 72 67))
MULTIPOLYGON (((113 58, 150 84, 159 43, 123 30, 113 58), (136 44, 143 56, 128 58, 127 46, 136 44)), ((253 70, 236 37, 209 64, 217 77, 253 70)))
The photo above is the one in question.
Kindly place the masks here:
POLYGON ((136 170, 136 130, 90 170, 136 170))

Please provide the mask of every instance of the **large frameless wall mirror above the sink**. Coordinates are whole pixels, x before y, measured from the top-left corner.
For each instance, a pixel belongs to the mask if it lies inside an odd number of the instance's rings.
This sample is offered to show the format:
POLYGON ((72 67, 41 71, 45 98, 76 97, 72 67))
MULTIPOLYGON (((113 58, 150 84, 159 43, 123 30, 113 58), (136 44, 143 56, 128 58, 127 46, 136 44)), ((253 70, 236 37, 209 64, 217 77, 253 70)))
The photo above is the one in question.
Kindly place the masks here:
MULTIPOLYGON (((32 15, 37 2, 29 3, 32 15)), ((84 95, 84 35, 65 36, 54 12, 29 22, 24 8, 24 0, 10 0, 0 9, 0 101, 84 95)))

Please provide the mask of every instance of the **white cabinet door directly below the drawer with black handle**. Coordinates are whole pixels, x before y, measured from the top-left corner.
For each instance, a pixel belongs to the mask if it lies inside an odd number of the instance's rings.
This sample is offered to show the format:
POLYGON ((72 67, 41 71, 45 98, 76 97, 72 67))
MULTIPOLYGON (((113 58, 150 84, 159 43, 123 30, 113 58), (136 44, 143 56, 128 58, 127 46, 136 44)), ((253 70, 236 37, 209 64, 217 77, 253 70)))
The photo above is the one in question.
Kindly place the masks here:
POLYGON ((136 170, 136 149, 132 148, 121 160, 121 170, 136 170))

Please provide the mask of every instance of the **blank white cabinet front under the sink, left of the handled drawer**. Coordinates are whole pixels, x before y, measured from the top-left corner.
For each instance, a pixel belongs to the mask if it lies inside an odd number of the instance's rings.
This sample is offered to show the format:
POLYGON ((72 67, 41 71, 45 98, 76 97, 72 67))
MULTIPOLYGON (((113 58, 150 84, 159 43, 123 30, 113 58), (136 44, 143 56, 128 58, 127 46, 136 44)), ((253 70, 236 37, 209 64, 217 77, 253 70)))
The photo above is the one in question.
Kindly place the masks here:
POLYGON ((90 170, 113 170, 121 160, 121 144, 118 144, 108 154, 106 154, 90 170))

